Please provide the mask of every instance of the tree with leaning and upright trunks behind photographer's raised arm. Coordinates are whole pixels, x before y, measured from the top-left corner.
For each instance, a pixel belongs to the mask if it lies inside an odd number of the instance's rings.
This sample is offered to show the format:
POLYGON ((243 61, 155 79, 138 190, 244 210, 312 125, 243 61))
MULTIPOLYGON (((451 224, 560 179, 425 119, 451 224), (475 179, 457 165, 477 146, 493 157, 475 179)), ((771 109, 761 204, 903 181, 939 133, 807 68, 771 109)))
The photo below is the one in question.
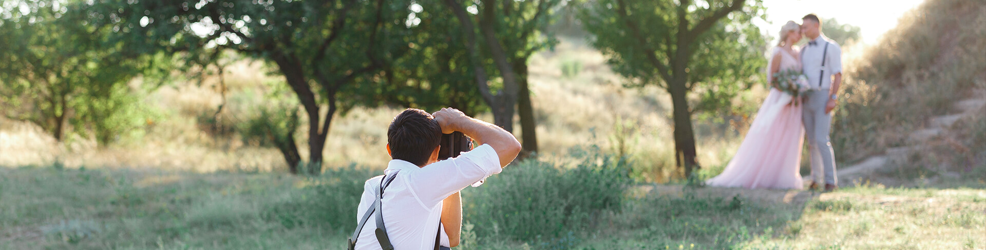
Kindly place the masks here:
POLYGON ((554 44, 551 35, 541 36, 540 30, 550 21, 552 10, 560 0, 537 1, 497 1, 484 0, 474 5, 479 27, 467 13, 465 6, 458 1, 445 0, 445 5, 455 14, 461 33, 465 36, 467 52, 474 70, 476 84, 483 99, 493 109, 494 122, 507 131, 513 131, 514 105, 518 105, 521 116, 523 156, 537 151, 536 124, 528 88, 528 59, 541 48, 554 44), (477 49, 482 34, 487 53, 477 49), (482 62, 483 56, 493 59, 495 69, 500 73, 503 88, 497 94, 489 92, 489 78, 482 62))

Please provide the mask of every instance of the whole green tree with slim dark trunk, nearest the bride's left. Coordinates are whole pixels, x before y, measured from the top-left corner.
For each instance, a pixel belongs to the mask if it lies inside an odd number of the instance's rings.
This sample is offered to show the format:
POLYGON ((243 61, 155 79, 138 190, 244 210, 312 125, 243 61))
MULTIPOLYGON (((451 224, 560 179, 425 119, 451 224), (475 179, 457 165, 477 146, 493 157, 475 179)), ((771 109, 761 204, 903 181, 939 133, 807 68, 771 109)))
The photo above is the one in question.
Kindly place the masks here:
POLYGON ((700 166, 689 94, 699 106, 728 105, 759 81, 766 42, 750 21, 762 19, 759 1, 599 0, 582 11, 593 45, 629 86, 656 85, 673 104, 675 162, 685 176, 700 166))

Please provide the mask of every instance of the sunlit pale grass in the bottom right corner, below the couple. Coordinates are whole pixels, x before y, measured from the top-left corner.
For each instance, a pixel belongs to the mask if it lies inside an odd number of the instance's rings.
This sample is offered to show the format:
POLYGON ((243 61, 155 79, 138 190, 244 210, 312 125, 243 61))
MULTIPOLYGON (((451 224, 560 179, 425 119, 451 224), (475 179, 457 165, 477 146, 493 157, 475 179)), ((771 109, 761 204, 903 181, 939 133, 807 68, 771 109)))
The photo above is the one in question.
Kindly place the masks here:
POLYGON ((749 249, 982 249, 986 192, 860 187, 822 194, 776 235, 749 249))

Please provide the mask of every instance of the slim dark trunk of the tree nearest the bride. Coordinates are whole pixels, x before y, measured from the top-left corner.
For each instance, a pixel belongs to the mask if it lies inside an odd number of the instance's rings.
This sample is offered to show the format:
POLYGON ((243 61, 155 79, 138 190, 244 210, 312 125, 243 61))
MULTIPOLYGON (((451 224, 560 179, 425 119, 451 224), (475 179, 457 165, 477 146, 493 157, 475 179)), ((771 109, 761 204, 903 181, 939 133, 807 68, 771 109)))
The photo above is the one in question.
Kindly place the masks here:
POLYGON ((695 159, 695 133, 691 126, 691 110, 688 108, 687 91, 684 80, 669 83, 668 93, 674 107, 674 162, 678 167, 684 167, 684 177, 688 178, 694 170, 700 168, 695 159))

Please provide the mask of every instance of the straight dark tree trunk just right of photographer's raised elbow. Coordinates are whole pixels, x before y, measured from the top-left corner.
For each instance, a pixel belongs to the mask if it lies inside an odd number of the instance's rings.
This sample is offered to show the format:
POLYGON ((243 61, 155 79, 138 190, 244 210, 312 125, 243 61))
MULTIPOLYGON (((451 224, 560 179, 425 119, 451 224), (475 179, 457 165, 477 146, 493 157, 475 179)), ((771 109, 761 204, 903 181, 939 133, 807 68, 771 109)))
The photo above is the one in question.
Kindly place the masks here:
POLYGON ((528 64, 527 59, 515 61, 514 69, 517 71, 517 109, 521 114, 521 141, 524 151, 521 158, 526 158, 537 152, 537 123, 534 120, 534 107, 530 103, 530 90, 528 88, 528 64))

